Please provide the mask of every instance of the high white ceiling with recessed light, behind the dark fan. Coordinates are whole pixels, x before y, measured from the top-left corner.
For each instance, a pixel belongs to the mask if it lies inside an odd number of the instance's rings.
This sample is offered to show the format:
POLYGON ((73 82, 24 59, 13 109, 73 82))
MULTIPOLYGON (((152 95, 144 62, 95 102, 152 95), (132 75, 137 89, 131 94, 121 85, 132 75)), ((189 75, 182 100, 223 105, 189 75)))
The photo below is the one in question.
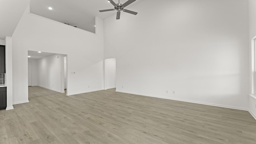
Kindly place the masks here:
MULTIPOLYGON (((118 0, 113 0, 118 3, 118 0)), ((120 0, 124 4, 127 0, 120 0)), ((137 4, 143 0, 136 0, 129 6, 137 4)), ((126 8, 128 8, 127 6, 126 8)), ((56 20, 58 22, 68 23, 77 26, 89 32, 95 32, 95 16, 102 19, 116 14, 117 11, 99 12, 99 10, 112 9, 114 6, 108 0, 31 0, 30 12, 56 20), (49 10, 48 7, 52 7, 49 10)), ((129 9, 129 8, 128 8, 129 9)), ((133 10, 130 8, 129 10, 133 10)), ((121 14, 122 18, 122 14, 121 14)))

